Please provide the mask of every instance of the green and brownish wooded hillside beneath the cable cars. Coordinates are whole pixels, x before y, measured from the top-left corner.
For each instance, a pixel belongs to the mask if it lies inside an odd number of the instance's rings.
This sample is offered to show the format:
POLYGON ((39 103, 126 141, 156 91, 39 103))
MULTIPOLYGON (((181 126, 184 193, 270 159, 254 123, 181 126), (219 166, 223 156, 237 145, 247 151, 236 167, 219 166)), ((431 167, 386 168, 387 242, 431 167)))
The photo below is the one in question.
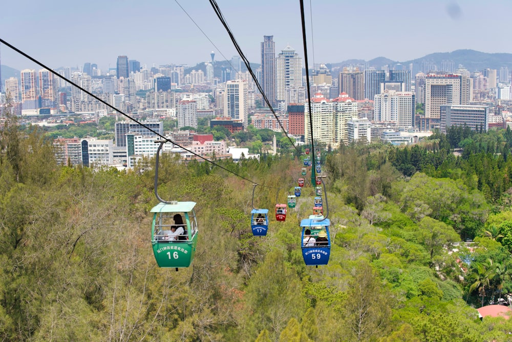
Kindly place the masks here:
MULTIPOLYGON (((20 136, 10 118, 0 132, 1 340, 510 339, 512 321, 475 309, 512 290, 508 132, 455 139, 460 157, 450 134, 323 155, 333 245, 318 268, 300 248, 311 186, 286 222, 253 237, 250 182, 164 155, 159 194, 197 202, 198 250, 178 272, 151 249, 153 160, 144 172, 58 166, 37 130, 20 136), (465 238, 473 252, 452 251, 465 238)), ((284 188, 281 203, 302 168, 289 155, 219 163, 284 188)), ((254 205, 272 211, 275 198, 257 187, 254 205)))

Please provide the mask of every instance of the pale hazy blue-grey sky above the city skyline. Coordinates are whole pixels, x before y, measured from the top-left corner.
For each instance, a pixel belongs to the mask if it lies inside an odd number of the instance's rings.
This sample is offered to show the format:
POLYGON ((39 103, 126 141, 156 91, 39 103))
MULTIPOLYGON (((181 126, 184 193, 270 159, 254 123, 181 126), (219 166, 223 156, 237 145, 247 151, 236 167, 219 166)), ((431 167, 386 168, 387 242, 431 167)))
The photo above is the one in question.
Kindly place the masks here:
MULTIPOLYGON (((310 65, 378 56, 402 62, 457 49, 512 53, 510 0, 304 2, 310 65)), ((304 56, 298 0, 217 3, 250 62, 261 63, 264 35, 274 36, 276 53, 289 44, 304 56)), ((208 0, 4 1, 0 36, 51 68, 90 62, 104 70, 116 66, 118 55, 147 67, 193 66, 212 50, 216 60, 236 54, 208 0)), ((3 65, 37 68, 4 45, 1 54, 3 65)))

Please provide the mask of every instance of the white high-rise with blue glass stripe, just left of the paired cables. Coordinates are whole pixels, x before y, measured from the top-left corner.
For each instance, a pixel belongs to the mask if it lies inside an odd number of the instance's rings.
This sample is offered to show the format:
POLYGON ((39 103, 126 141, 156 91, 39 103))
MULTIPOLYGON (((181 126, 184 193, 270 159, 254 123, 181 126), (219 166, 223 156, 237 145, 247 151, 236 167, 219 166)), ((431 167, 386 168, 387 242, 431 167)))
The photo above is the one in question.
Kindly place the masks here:
POLYGON ((226 82, 226 91, 224 93, 224 116, 242 120, 244 128, 247 127, 247 82, 226 82))

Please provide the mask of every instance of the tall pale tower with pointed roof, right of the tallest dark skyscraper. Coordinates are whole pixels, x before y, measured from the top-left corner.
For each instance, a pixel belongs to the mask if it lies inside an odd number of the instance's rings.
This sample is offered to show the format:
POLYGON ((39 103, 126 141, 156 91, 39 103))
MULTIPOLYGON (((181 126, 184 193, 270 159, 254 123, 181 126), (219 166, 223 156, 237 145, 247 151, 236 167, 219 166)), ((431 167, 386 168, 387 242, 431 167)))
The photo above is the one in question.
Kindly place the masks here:
POLYGON ((302 58, 289 45, 275 58, 275 99, 283 102, 286 88, 302 86, 302 58))

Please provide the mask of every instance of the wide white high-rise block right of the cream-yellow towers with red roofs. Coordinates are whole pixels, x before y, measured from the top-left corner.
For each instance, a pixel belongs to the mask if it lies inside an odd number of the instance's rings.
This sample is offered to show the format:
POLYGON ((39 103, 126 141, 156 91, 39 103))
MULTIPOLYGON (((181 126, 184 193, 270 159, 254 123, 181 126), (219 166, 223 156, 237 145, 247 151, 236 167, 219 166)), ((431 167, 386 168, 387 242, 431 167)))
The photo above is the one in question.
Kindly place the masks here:
POLYGON ((415 100, 412 92, 385 90, 375 95, 374 115, 377 121, 392 122, 398 127, 414 127, 415 100))

